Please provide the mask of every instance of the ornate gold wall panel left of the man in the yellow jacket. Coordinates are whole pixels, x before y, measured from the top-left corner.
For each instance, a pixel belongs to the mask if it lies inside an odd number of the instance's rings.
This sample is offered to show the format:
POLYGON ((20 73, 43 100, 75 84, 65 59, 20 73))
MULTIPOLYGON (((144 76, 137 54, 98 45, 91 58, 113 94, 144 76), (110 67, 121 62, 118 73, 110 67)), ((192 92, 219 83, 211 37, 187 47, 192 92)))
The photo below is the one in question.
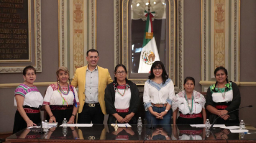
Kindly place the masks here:
POLYGON ((86 52, 96 49, 96 0, 59 0, 59 66, 87 64, 86 52))

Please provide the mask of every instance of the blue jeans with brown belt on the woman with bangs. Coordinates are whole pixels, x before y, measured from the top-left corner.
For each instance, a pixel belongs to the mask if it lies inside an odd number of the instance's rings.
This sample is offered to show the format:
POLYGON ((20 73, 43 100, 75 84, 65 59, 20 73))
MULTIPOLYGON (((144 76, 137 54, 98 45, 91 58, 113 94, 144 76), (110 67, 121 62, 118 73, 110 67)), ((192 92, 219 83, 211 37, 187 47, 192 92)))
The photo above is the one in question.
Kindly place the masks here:
MULTIPOLYGON (((154 112, 161 113, 166 110, 166 107, 152 107, 154 112)), ((171 124, 172 120, 172 109, 163 117, 163 119, 157 119, 154 115, 152 115, 149 111, 146 111, 146 119, 148 124, 151 124, 151 120, 153 125, 168 125, 171 124)))

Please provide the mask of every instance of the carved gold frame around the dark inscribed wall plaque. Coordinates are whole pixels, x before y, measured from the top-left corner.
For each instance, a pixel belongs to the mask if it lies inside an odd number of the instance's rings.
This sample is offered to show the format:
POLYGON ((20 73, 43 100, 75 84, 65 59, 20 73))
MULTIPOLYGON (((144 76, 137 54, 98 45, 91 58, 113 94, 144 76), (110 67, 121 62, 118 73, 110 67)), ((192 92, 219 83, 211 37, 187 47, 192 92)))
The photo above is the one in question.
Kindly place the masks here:
MULTIPOLYGON (((29 6, 30 7, 30 6, 29 6)), ((31 9, 29 9, 31 11, 31 9)), ((35 65, 36 72, 42 72, 41 54, 41 0, 34 1, 34 23, 35 23, 35 65)), ((29 17, 30 18, 30 17, 29 17)), ((31 20, 29 20, 31 21, 31 20)), ((32 39, 30 39, 32 40, 32 39)), ((26 66, 1 66, 0 73, 21 73, 26 66)))

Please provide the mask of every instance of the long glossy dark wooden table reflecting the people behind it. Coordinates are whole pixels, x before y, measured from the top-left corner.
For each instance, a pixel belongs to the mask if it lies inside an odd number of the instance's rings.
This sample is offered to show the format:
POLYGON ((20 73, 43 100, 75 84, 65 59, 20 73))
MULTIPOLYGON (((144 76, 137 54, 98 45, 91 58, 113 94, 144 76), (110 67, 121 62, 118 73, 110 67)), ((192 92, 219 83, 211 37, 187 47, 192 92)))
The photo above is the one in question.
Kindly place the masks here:
POLYGON ((119 128, 115 131, 110 125, 95 124, 93 127, 51 128, 44 134, 23 129, 7 137, 6 143, 256 143, 256 129, 252 126, 246 126, 249 133, 244 135, 231 133, 227 129, 208 131, 189 125, 159 125, 154 129, 149 127, 143 125, 140 129, 137 125, 132 125, 131 128, 119 128))

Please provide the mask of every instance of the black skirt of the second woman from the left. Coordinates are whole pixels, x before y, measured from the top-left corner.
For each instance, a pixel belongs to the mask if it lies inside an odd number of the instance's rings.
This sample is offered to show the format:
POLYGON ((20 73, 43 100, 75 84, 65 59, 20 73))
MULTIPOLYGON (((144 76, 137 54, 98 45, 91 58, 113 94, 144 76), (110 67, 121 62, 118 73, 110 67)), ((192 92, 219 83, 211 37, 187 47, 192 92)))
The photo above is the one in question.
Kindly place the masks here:
MULTIPOLYGON (((67 122, 69 121, 73 109, 65 109, 65 110, 51 110, 52 114, 54 115, 56 122, 58 123, 58 126, 60 126, 62 124, 62 121, 64 120, 64 118, 67 119, 67 122)), ((47 114, 46 120, 49 122, 49 115, 47 114)))

